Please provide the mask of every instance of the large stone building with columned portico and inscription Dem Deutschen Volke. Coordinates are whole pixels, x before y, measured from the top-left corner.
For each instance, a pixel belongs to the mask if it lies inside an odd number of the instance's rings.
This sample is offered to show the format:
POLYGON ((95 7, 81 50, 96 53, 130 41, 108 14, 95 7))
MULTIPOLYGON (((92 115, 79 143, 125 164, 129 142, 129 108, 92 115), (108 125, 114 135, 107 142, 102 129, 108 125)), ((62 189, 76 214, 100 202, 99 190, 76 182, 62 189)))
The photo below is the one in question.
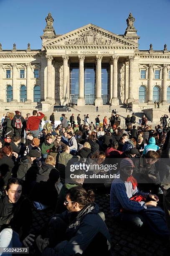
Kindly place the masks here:
POLYGON ((48 13, 41 50, 0 44, 0 106, 168 105, 170 51, 139 50, 134 20, 130 13, 123 35, 93 24, 59 35, 48 13))

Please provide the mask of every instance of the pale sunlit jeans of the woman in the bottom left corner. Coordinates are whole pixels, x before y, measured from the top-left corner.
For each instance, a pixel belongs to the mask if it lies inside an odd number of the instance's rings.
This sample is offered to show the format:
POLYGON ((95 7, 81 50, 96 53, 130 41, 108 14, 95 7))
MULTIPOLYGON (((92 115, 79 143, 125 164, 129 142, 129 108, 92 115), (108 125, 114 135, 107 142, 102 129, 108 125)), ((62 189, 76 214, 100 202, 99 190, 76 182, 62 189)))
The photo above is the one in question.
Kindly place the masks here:
MULTIPOLYGON (((18 233, 16 233, 11 228, 4 228, 0 232, 0 247, 22 247, 18 233)), ((0 253, 0 256, 3 253, 0 253)), ((12 253, 5 253, 6 256, 12 256, 12 253)))

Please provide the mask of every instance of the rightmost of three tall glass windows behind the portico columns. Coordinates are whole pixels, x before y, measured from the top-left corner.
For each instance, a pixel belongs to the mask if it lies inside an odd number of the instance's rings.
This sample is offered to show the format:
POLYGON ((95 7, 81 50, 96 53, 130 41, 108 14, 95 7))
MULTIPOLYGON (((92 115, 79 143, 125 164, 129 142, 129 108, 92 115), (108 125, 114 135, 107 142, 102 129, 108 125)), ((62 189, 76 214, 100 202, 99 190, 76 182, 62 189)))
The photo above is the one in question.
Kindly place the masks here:
POLYGON ((101 63, 101 97, 104 105, 109 105, 109 63, 101 63))

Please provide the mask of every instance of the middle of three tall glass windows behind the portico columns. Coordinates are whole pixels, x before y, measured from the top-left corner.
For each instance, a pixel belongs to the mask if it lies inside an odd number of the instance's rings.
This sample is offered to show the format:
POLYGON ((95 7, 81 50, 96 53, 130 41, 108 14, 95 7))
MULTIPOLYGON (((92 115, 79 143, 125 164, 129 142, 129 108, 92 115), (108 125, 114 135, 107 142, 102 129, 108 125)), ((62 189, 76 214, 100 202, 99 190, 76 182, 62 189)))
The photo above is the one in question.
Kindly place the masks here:
POLYGON ((96 87, 96 65, 94 63, 84 64, 84 98, 85 104, 94 104, 96 87))

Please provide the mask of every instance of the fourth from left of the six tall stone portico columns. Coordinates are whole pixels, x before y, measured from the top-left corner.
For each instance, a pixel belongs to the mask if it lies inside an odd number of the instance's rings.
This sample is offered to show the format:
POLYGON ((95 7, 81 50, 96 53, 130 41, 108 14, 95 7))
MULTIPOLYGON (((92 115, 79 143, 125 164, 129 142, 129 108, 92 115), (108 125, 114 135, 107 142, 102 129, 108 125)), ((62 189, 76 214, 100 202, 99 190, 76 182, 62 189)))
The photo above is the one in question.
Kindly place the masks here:
POLYGON ((96 55, 96 61, 97 61, 97 90, 96 90, 96 99, 95 99, 95 106, 101 106, 103 105, 103 100, 101 98, 101 61, 103 56, 102 55, 96 55))

